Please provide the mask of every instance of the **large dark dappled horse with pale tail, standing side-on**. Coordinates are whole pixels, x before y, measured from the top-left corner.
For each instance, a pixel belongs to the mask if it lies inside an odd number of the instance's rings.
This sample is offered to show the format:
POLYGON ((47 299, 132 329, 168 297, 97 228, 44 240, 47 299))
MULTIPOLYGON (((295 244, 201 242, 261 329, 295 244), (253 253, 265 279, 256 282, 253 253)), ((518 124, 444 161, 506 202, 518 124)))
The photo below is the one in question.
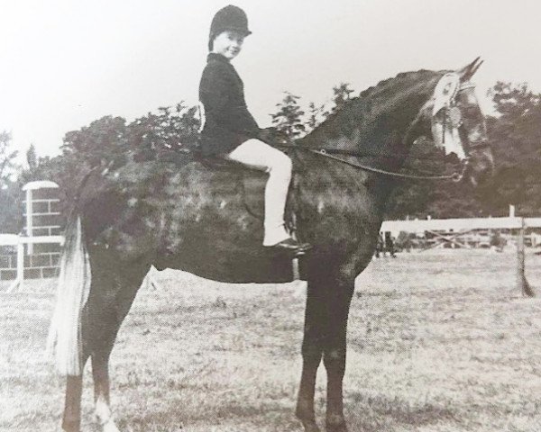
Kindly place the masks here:
MULTIPOLYGON (((491 148, 470 83, 479 65, 382 81, 290 149, 289 214, 298 238, 313 245, 300 263, 307 305, 297 416, 307 432, 319 431, 314 392, 322 359, 326 430, 347 430, 343 377, 353 285, 371 261, 396 184, 378 170, 399 171, 413 142, 432 130, 436 145, 468 162, 463 177, 476 184, 491 174, 491 148), (313 151, 318 148, 327 151, 313 151)), ((190 154, 87 176, 66 229, 50 330, 57 366, 68 377, 64 430, 80 428, 82 370, 90 357, 97 419, 105 432, 118 431, 109 406, 109 356, 152 265, 232 283, 291 280, 290 257, 261 247, 264 182, 263 173, 209 166, 190 154)))

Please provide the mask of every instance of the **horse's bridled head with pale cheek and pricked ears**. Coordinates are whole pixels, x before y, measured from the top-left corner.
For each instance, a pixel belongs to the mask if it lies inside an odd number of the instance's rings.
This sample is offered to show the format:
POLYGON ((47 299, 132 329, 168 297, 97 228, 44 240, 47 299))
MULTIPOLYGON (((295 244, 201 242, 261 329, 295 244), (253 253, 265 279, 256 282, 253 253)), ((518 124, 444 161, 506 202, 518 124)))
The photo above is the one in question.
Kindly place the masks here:
POLYGON ((439 80, 426 108, 431 113, 436 146, 464 160, 464 177, 472 184, 488 178, 494 168, 481 107, 470 78, 481 66, 479 58, 466 67, 448 72, 439 80))

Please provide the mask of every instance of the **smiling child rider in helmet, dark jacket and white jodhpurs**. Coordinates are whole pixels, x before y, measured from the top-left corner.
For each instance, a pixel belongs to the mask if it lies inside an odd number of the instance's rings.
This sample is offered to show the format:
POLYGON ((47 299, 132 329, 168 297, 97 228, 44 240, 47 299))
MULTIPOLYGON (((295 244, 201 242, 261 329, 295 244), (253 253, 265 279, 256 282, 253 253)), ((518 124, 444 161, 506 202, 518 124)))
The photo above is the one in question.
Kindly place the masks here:
POLYGON ((269 173, 265 187, 263 246, 302 253, 309 245, 291 238, 284 225, 291 160, 263 142, 271 141, 269 131, 261 130, 248 112, 243 81, 230 63, 241 52, 244 38, 251 33, 246 14, 237 6, 225 6, 212 20, 210 52, 199 85, 199 100, 205 110, 201 151, 269 173))

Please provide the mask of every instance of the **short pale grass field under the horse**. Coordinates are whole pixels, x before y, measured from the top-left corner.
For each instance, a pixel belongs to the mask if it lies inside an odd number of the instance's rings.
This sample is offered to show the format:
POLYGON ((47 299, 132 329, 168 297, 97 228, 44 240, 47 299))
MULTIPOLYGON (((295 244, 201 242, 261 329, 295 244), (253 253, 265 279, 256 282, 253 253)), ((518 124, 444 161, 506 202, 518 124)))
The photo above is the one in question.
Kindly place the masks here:
MULTIPOLYGON (((541 431, 541 300, 515 256, 381 258, 357 279, 344 379, 352 432, 541 431)), ((541 257, 527 257, 540 292, 541 257)), ((111 361, 123 432, 301 431, 293 411, 304 284, 227 285, 165 271, 143 286, 111 361)), ((64 380, 42 355, 54 281, 0 286, 0 431, 60 430, 64 380)), ((83 431, 97 431, 86 371, 83 431)), ((325 370, 316 389, 323 419, 325 370)))

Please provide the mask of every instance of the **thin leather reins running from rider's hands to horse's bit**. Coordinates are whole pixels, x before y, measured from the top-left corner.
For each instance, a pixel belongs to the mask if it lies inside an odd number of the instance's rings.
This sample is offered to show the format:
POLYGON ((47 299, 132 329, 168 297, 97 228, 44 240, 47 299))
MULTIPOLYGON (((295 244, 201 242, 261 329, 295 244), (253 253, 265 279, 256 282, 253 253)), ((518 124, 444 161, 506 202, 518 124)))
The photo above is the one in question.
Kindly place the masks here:
POLYGON ((293 148, 297 150, 304 150, 309 151, 310 153, 314 153, 315 155, 328 157, 329 159, 333 159, 337 162, 342 162, 345 165, 353 166, 355 168, 362 169, 363 171, 367 171, 369 173, 374 174, 380 174, 380 175, 389 175, 390 177, 398 177, 398 178, 406 178, 409 180, 453 180, 454 182, 458 183, 463 179, 463 175, 465 174, 467 168, 468 168, 468 159, 466 158, 463 170, 461 173, 455 172, 451 175, 413 175, 413 174, 402 174, 397 173, 394 171, 388 171, 381 168, 375 168, 373 166, 367 166, 364 164, 352 162, 350 160, 345 160, 341 157, 336 157, 334 154, 340 154, 345 156, 352 156, 352 157, 389 157, 389 158, 398 158, 396 156, 391 155, 381 155, 381 154, 370 154, 370 153, 360 153, 356 151, 350 151, 350 150, 344 150, 340 148, 307 148, 302 146, 297 146, 295 144, 273 144, 275 147, 280 148, 293 148))

